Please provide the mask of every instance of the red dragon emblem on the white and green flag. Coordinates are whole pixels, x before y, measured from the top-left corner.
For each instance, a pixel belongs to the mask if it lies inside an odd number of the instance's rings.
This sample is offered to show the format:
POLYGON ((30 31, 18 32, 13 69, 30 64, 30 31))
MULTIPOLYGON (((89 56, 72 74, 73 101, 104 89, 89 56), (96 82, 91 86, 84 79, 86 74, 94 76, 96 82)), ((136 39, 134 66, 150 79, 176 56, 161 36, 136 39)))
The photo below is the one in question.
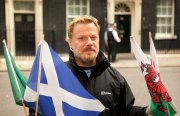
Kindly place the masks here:
POLYGON ((172 99, 167 92, 165 86, 163 85, 159 75, 156 73, 152 65, 141 63, 141 71, 147 73, 145 75, 145 80, 148 86, 148 89, 152 92, 151 97, 154 103, 159 103, 158 109, 164 113, 168 113, 166 106, 163 106, 161 103, 161 98, 165 102, 171 102, 172 99))

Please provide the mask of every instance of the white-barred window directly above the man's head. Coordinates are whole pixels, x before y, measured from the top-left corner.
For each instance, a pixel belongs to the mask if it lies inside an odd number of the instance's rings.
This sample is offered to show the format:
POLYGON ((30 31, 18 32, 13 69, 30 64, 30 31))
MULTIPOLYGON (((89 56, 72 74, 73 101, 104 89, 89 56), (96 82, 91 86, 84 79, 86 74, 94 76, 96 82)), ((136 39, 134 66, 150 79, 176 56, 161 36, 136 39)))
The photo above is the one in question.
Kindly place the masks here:
POLYGON ((89 0, 67 0, 67 24, 82 15, 89 15, 89 0))

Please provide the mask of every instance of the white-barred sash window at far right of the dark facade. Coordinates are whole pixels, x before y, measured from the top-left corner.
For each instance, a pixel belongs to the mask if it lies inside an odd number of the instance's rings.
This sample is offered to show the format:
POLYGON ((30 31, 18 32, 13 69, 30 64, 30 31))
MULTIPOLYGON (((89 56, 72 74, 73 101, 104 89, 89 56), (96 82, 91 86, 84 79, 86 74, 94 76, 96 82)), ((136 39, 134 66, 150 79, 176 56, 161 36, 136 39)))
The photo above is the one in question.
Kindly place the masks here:
POLYGON ((174 0, 157 0, 156 39, 175 39, 174 0))

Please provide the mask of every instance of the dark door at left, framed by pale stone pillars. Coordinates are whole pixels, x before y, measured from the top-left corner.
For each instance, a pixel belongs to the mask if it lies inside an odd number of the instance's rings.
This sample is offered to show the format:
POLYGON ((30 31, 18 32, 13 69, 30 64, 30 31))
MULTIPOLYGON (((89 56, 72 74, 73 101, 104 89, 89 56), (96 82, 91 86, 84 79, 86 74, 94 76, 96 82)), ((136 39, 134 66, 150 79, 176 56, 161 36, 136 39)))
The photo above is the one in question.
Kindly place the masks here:
POLYGON ((35 55, 34 14, 15 14, 14 19, 16 55, 35 55))

